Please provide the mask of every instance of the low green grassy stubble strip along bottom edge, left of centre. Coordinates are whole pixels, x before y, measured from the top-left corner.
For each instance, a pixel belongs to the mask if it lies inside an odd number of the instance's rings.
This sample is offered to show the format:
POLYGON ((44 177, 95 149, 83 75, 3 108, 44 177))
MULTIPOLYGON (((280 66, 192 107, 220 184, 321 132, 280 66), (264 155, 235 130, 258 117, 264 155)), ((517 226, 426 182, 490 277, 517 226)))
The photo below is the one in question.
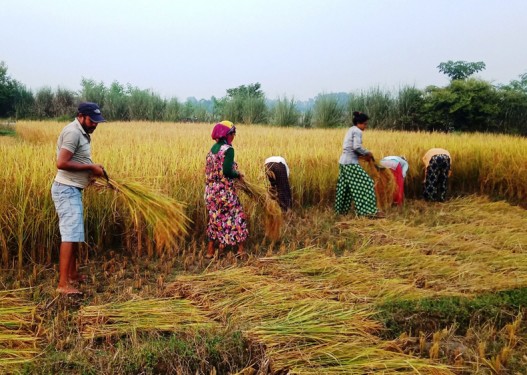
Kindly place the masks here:
POLYGON ((116 374, 226 374, 241 370, 240 366, 255 354, 236 331, 200 332, 195 336, 145 334, 135 340, 102 340, 79 349, 49 349, 46 356, 26 364, 20 373, 101 374, 111 369, 116 374))

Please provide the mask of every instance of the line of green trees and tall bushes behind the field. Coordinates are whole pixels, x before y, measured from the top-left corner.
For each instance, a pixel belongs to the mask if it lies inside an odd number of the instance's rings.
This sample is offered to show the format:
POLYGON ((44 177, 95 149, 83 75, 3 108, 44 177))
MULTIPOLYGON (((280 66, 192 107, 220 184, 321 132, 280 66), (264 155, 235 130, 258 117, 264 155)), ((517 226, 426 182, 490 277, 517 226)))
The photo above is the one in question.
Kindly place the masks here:
POLYGON ((235 123, 277 126, 349 126, 353 111, 370 116, 371 127, 393 130, 481 131, 527 135, 527 73, 509 84, 472 78, 483 62, 448 61, 439 71, 450 77, 445 87, 397 92, 380 88, 356 93, 319 94, 308 102, 269 100, 260 83, 226 90, 210 100, 162 98, 152 90, 113 82, 107 86, 81 79, 78 92, 44 87, 33 92, 8 75, 0 62, 0 118, 67 120, 79 101, 98 103, 111 121, 196 121, 230 119, 235 123))

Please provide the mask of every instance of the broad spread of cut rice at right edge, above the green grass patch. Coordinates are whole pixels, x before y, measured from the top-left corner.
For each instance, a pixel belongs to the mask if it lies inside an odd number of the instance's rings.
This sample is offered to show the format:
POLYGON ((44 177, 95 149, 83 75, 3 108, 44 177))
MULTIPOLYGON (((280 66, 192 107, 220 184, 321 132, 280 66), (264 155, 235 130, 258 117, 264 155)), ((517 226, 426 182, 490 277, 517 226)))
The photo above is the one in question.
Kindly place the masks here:
POLYGON ((467 295, 527 285, 524 209, 476 196, 451 199, 440 209, 426 205, 413 202, 389 226, 341 222, 348 228, 342 235, 367 241, 353 252, 359 263, 413 280, 421 291, 467 295))

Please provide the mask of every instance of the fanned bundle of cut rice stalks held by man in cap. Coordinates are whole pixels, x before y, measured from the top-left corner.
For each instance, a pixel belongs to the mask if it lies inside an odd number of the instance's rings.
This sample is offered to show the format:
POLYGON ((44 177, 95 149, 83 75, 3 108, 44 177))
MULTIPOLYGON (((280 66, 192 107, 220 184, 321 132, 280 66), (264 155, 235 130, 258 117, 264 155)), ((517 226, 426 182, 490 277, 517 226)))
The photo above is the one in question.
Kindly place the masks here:
POLYGON ((146 224, 158 254, 163 249, 177 248, 177 241, 188 234, 191 220, 185 213, 184 203, 137 182, 118 182, 106 176, 95 184, 117 193, 117 201, 127 208, 136 230, 141 231, 142 223, 146 224))

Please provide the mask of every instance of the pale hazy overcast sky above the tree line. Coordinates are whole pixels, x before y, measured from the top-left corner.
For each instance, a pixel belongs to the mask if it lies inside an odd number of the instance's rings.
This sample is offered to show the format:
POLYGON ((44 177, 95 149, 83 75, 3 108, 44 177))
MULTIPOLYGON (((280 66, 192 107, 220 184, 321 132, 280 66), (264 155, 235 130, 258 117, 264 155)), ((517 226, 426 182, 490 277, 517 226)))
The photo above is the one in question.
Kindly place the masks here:
POLYGON ((526 0, 0 0, 0 61, 28 88, 82 77, 163 97, 222 97, 260 82, 269 99, 445 85, 527 72, 526 0))

